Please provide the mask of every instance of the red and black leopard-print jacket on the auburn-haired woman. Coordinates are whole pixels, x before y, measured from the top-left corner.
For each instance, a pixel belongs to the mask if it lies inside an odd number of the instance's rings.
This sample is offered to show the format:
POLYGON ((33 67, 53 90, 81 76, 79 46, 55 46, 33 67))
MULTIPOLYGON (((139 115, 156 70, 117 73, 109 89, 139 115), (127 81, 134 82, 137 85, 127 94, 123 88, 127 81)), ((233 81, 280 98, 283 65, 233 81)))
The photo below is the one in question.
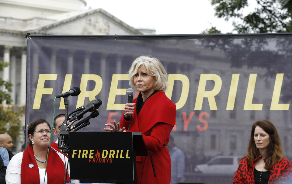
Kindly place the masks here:
MULTIPOLYGON (((255 169, 255 162, 261 158, 258 158, 252 162, 252 167, 247 165, 246 157, 243 158, 238 165, 238 169, 233 177, 233 184, 252 184, 255 183, 253 176, 253 170, 255 169)), ((284 158, 281 161, 276 161, 272 169, 268 184, 280 184, 280 183, 292 183, 292 165, 291 162, 284 158)))

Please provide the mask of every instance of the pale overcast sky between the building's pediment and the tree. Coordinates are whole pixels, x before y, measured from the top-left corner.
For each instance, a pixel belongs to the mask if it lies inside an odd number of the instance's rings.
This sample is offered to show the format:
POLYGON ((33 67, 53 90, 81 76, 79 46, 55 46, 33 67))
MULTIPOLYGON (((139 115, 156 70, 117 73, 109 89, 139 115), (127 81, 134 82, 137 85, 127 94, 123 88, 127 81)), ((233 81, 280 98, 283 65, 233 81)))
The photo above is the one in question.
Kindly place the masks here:
POLYGON ((232 20, 214 16, 210 0, 86 1, 87 8, 102 8, 136 29, 155 29, 155 34, 200 34, 211 26, 221 33, 236 33, 232 20))

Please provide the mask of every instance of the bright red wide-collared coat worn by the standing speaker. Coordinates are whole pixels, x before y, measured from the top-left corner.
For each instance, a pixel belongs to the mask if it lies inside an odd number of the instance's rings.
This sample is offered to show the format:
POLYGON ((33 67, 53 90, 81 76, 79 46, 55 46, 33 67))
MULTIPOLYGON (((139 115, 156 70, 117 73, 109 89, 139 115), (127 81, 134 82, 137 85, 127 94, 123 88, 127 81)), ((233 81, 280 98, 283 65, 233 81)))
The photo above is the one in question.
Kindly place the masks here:
MULTIPOLYGON (((133 103, 137 102, 137 98, 133 103)), ((169 184, 171 161, 169 150, 165 145, 169 142, 169 134, 176 124, 176 105, 162 91, 156 92, 144 103, 138 116, 132 115, 131 132, 142 132, 146 147, 152 155, 156 177, 154 177, 150 157, 137 156, 137 184, 169 184)), ((129 122, 120 118, 121 127, 128 129, 129 122)))

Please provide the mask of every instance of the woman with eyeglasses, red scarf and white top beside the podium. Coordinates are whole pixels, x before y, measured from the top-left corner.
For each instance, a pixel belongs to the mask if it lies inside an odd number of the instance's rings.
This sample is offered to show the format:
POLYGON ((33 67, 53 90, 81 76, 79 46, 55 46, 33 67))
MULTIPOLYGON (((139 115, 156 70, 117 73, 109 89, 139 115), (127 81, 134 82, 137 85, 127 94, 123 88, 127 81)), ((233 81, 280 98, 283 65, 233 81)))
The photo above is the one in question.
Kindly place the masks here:
MULTIPOLYGON (((68 159, 49 147, 50 129, 50 124, 44 119, 30 123, 27 130, 30 139, 28 148, 12 157, 6 170, 6 184, 64 184, 65 162, 67 165, 68 159)), ((70 182, 69 167, 66 174, 66 182, 70 182)))

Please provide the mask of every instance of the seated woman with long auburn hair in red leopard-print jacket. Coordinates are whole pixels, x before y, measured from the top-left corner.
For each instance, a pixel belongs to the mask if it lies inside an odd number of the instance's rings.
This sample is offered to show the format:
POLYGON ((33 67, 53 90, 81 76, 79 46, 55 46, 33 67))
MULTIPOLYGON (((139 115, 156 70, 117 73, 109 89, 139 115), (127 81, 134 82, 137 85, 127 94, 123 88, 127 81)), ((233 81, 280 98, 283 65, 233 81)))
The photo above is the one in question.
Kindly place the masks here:
POLYGON ((239 162, 233 183, 278 184, 292 182, 291 162, 283 157, 278 132, 269 120, 252 125, 247 156, 239 162))

